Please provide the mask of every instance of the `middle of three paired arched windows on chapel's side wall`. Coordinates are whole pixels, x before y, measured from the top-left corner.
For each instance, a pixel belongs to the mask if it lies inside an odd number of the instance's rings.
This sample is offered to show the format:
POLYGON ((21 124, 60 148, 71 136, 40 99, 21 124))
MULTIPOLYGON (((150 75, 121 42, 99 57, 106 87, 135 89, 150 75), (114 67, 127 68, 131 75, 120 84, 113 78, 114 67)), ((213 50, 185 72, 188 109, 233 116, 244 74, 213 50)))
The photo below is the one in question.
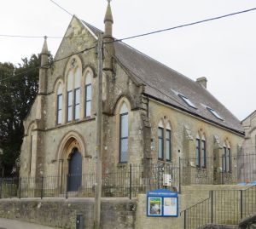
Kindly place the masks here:
POLYGON ((196 135, 195 165, 198 168, 207 167, 207 141, 205 135, 196 135))

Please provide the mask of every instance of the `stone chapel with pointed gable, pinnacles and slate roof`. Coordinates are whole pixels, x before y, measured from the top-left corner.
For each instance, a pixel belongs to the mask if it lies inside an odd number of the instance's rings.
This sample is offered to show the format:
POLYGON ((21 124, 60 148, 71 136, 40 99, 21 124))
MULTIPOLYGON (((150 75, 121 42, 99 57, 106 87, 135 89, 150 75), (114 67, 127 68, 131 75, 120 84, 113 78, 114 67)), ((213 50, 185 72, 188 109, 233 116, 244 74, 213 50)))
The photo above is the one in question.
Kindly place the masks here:
POLYGON ((67 175, 74 164, 79 173, 95 173, 97 54, 90 48, 100 33, 103 172, 130 163, 177 164, 179 157, 195 158, 191 166, 204 169, 207 157, 223 153, 228 171, 244 133, 207 90, 207 79, 194 82, 117 41, 109 3, 104 23, 102 32, 73 16, 51 67, 44 41, 38 96, 24 121, 20 177, 67 175))

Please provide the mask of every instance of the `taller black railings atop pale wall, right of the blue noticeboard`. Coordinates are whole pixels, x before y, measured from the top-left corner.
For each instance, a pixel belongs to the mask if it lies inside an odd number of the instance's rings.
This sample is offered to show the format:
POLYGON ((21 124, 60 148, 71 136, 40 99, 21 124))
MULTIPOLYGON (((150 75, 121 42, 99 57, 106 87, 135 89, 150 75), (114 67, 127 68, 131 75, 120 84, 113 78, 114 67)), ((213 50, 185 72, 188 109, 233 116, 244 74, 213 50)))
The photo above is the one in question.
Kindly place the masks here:
POLYGON ((204 167, 196 162, 196 158, 181 159, 182 185, 227 185, 256 180, 255 153, 206 157, 204 167))

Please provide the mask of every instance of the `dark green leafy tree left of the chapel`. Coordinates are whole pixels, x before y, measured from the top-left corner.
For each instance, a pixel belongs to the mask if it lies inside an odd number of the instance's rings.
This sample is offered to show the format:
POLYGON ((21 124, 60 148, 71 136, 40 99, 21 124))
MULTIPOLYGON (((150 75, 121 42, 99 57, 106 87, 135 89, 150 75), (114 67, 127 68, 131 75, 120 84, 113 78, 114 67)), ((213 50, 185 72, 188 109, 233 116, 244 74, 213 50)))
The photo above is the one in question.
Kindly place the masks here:
POLYGON ((3 149, 0 159, 4 175, 12 173, 20 156, 23 120, 38 94, 38 66, 37 54, 32 54, 29 60, 22 59, 18 66, 0 63, 0 148, 3 149))

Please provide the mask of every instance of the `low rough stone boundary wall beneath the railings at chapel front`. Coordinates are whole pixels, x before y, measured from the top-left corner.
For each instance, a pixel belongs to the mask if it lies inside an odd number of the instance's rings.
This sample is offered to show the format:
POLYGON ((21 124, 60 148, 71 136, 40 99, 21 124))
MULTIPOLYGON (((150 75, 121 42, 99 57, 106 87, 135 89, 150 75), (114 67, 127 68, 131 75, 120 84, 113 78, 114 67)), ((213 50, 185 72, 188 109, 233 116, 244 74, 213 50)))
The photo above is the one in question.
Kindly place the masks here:
MULTIPOLYGON (((74 229, 77 214, 83 214, 84 228, 91 229, 93 205, 94 198, 1 199, 0 217, 74 229)), ((102 228, 134 228, 136 208, 136 200, 103 198, 102 228)))

